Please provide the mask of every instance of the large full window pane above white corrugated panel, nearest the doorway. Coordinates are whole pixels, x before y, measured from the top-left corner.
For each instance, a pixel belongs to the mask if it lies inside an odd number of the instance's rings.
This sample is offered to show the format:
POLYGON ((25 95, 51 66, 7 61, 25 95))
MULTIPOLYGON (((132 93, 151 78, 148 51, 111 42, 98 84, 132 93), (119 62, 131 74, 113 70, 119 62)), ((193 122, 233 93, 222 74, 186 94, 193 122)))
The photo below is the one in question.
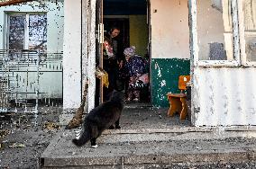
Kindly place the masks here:
POLYGON ((200 60, 233 60, 231 0, 197 0, 200 60))

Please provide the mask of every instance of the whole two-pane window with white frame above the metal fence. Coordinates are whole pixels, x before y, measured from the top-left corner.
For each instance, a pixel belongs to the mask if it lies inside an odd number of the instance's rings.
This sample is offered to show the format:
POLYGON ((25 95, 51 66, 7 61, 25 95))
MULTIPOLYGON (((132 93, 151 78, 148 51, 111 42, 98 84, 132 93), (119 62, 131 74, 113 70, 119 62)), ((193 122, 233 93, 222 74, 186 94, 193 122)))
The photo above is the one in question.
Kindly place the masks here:
POLYGON ((47 47, 47 16, 40 14, 8 15, 8 49, 44 49, 47 47))

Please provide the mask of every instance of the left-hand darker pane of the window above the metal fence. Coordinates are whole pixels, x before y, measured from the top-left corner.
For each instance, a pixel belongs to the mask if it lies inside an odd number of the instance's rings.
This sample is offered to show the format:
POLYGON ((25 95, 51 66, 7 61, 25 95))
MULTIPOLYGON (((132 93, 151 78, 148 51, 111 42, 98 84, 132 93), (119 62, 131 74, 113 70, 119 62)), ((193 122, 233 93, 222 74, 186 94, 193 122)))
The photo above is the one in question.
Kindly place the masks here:
POLYGON ((9 16, 9 49, 24 48, 25 15, 9 16))

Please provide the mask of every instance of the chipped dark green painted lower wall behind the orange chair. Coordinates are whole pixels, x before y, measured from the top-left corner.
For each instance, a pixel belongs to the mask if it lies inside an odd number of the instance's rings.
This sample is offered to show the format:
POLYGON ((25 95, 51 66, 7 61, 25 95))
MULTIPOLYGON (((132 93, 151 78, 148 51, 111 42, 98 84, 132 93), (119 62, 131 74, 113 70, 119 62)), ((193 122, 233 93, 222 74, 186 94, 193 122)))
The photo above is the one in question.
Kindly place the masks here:
POLYGON ((189 75, 190 60, 181 58, 151 59, 152 103, 156 107, 169 107, 166 94, 179 93, 178 76, 189 75))

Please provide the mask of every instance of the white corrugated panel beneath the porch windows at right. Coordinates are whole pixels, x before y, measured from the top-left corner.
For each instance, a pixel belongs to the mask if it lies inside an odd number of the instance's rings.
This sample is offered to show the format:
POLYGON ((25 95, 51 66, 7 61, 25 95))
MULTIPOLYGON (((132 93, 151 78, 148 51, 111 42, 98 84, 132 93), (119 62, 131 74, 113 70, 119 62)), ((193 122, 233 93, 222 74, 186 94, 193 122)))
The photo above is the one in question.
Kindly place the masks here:
POLYGON ((196 126, 256 125, 255 67, 195 67, 196 126))

